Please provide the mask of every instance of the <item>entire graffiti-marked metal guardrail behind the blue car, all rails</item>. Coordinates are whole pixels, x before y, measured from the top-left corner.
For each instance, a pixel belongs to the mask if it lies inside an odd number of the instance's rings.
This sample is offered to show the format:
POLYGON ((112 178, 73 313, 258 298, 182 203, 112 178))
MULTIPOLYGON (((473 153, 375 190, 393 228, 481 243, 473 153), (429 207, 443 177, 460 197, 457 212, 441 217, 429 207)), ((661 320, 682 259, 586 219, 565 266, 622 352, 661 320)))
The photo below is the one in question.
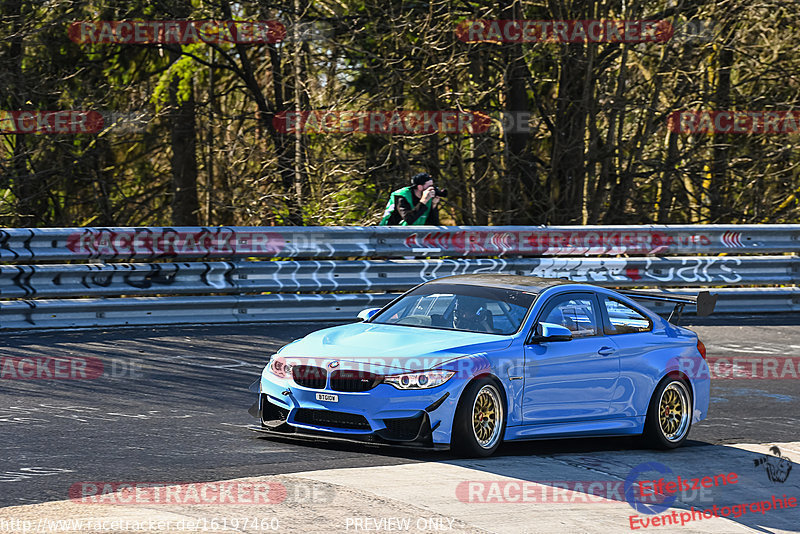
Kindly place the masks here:
POLYGON ((715 287, 720 312, 794 312, 798 288, 763 286, 796 285, 798 253, 800 225, 4 229, 0 330, 350 320, 477 272, 715 287))

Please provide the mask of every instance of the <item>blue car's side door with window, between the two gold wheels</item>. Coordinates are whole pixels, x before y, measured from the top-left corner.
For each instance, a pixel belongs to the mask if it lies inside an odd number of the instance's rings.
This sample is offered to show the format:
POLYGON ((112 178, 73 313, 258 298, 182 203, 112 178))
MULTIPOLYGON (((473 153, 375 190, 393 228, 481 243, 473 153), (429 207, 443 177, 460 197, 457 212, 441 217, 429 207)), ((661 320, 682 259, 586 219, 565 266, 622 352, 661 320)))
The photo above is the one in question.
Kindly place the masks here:
POLYGON ((619 379, 615 344, 606 337, 599 301, 591 292, 562 293, 550 298, 534 322, 565 326, 569 341, 525 344, 524 424, 555 423, 608 417, 619 379))

